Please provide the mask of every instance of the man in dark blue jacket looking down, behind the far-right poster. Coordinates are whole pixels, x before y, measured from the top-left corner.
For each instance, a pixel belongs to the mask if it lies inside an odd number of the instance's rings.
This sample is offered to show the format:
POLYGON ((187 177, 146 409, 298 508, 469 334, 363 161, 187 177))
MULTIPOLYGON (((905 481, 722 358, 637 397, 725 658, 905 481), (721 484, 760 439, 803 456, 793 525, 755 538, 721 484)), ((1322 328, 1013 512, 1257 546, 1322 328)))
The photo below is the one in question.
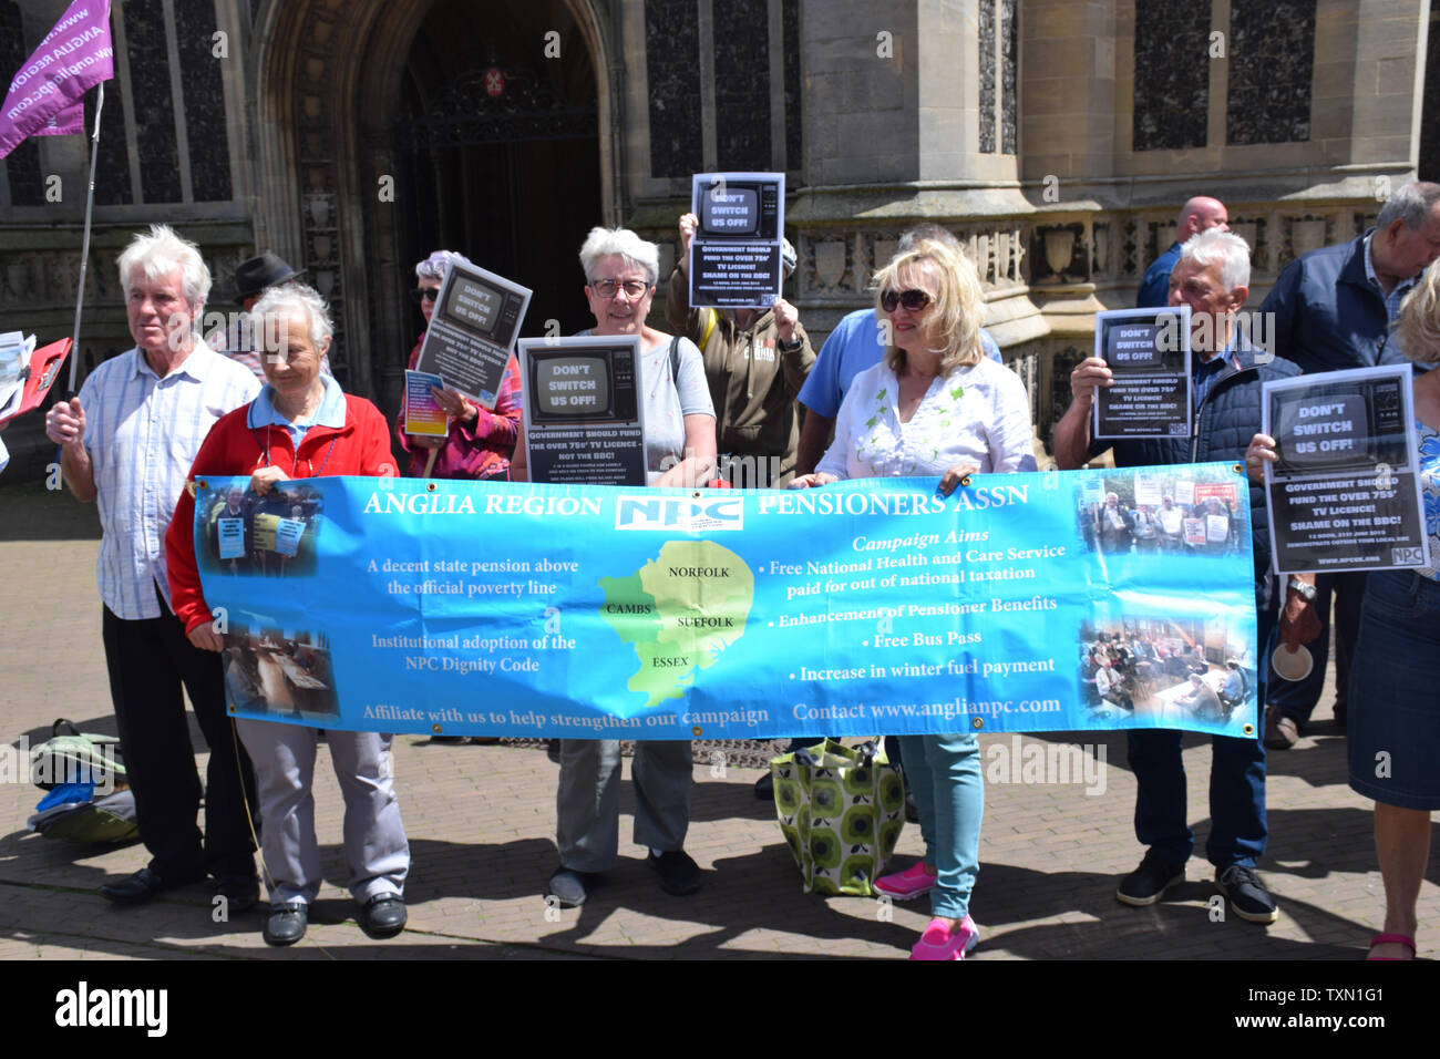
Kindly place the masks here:
MULTIPOLYGON (((1440 256, 1440 184, 1405 184, 1381 207, 1375 228, 1351 242, 1310 251, 1280 272, 1260 305, 1260 320, 1270 327, 1266 349, 1299 365, 1306 375, 1408 363, 1390 340, 1390 324, 1436 256, 1440 256)), ((1296 742, 1325 687, 1332 592, 1335 719, 1344 726, 1349 650, 1359 631, 1365 575, 1292 578, 1286 594, 1296 605, 1310 601, 1319 633, 1309 647, 1315 656, 1309 677, 1287 682, 1270 674, 1264 742, 1272 749, 1287 749, 1296 742), (1308 584, 1312 581, 1313 589, 1308 584)))

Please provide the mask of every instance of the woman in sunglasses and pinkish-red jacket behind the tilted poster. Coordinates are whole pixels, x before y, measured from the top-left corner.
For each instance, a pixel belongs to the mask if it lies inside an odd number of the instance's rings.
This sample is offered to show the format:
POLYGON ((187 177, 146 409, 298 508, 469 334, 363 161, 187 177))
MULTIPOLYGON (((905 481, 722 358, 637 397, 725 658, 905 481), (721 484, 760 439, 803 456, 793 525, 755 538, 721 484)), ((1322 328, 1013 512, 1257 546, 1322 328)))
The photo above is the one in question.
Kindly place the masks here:
MULTIPOLYGON (((435 251, 415 267, 416 285, 410 291, 410 297, 425 314, 426 327, 435 311, 435 298, 439 297, 441 282, 444 282, 452 261, 469 264, 468 258, 455 251, 435 251)), ((415 349, 410 350, 408 367, 415 367, 423 344, 425 333, 422 331, 415 341, 415 349)), ((500 390, 495 393, 494 411, 481 408, 449 386, 444 389, 432 386, 431 393, 449 418, 449 434, 444 438, 406 434, 405 409, 402 408, 396 419, 396 437, 400 439, 400 448, 409 454, 406 477, 508 478, 510 457, 516 451, 516 441, 520 437, 518 379, 520 366, 511 356, 505 366, 505 375, 500 380, 500 390), (435 455, 435 465, 426 474, 425 467, 433 448, 438 448, 439 452, 435 455)))

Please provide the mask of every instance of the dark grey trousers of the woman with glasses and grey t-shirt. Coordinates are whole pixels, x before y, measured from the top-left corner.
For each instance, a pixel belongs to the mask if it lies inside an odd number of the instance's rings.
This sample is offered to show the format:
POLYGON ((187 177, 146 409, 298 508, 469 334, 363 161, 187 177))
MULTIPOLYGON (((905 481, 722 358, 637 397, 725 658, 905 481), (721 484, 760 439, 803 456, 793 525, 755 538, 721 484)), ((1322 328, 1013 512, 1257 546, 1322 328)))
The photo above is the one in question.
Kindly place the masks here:
MULTIPOLYGON (((690 827, 690 742, 636 745, 635 843, 662 853, 684 849, 690 827)), ((619 852, 621 745, 618 739, 562 739, 556 791, 560 864, 606 872, 619 852)))

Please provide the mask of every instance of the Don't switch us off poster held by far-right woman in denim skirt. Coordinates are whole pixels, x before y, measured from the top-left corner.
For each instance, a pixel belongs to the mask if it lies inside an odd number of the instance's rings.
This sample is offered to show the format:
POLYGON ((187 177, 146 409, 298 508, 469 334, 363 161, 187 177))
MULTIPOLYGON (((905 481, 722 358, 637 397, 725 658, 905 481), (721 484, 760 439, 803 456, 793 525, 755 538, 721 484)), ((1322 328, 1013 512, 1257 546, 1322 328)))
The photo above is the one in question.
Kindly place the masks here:
POLYGON ((1430 565, 1408 365, 1264 385, 1277 573, 1430 565))

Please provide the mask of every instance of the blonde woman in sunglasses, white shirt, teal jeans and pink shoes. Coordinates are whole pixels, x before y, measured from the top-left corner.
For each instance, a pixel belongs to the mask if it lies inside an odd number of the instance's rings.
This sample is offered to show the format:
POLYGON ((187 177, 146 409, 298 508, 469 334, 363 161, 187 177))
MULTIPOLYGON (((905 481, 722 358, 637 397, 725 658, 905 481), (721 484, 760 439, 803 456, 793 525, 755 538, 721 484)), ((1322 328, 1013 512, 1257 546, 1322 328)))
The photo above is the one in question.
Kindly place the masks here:
MULTIPOLYGON (((984 295, 959 251, 926 239, 876 277, 884 359, 855 376, 835 421, 835 441, 814 474, 791 488, 840 478, 923 475, 949 494, 975 473, 1032 471, 1030 399, 1020 377, 985 356, 984 295)), ((876 889, 904 901, 930 895, 933 919, 912 960, 962 960, 979 939, 969 916, 979 872, 979 742, 972 732, 900 738, 920 808, 924 859, 881 876, 876 889)))

